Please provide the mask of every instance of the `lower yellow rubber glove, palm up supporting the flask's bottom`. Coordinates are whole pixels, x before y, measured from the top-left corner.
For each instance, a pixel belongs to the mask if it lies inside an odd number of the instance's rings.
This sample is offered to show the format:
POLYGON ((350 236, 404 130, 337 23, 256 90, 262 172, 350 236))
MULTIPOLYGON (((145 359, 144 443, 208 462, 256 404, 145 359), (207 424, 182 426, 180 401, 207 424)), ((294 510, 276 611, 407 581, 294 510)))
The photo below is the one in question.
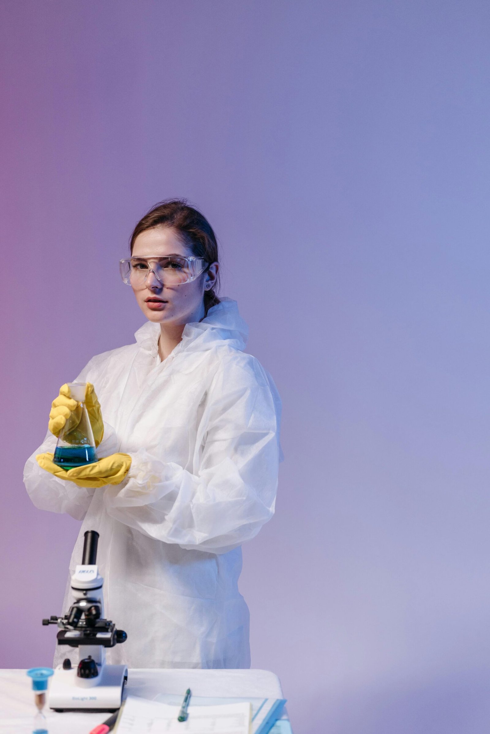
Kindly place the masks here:
POLYGON ((106 484, 120 484, 131 466, 129 454, 111 454, 93 464, 77 466, 74 469, 62 469, 53 462, 54 454, 49 452, 37 454, 36 461, 40 468, 54 474, 59 479, 75 482, 78 487, 105 487, 106 484))

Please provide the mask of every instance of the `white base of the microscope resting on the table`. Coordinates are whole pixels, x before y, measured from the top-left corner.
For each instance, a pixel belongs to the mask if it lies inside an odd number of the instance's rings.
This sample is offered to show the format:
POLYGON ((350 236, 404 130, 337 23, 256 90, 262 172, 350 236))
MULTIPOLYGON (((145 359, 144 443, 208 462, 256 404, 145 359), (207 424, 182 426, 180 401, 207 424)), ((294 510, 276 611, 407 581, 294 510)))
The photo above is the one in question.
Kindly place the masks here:
POLYGON ((125 665, 104 664, 97 678, 79 678, 77 669, 59 665, 51 678, 48 706, 54 711, 117 711, 128 680, 125 665))

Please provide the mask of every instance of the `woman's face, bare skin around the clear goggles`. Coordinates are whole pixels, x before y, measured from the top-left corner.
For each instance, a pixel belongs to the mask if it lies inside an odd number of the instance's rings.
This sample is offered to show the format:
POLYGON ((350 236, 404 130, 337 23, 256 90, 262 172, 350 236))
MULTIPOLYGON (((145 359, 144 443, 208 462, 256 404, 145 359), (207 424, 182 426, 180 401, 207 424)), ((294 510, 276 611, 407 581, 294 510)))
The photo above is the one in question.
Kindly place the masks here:
MULTIPOLYGON (((178 233, 172 228, 158 226, 145 230, 136 237, 133 257, 151 258, 169 255, 190 257, 194 253, 180 241, 178 233)), ((199 275, 191 283, 180 285, 163 285, 154 272, 149 272, 145 283, 133 288, 139 308, 148 321, 160 324, 180 326, 204 317, 204 291, 212 288, 216 280, 218 264, 213 263, 209 269, 199 275)))

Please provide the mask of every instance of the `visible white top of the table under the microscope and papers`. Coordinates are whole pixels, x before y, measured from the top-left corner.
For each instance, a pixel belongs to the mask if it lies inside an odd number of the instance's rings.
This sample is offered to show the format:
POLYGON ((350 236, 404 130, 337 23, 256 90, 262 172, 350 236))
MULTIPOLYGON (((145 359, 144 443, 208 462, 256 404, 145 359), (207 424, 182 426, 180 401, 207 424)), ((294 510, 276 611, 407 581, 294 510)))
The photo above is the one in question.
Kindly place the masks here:
MULTIPOLYGON (((194 696, 282 698, 279 678, 268 670, 129 669, 125 695, 154 699, 159 693, 194 696)), ((31 734, 35 713, 25 670, 0 670, 0 733, 31 734)), ((109 713, 56 713, 45 708, 49 734, 89 734, 109 713)))

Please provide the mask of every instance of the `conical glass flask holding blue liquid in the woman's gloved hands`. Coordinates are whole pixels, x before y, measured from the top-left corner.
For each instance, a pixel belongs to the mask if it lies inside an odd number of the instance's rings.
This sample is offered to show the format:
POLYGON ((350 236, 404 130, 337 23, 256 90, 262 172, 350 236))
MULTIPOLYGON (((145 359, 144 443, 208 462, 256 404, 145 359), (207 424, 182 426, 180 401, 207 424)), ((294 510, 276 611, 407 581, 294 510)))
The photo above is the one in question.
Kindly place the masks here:
POLYGON ((84 402, 86 386, 87 382, 68 382, 70 397, 78 401, 78 406, 60 432, 54 450, 53 461, 62 469, 73 469, 76 466, 93 464, 98 460, 92 426, 84 402))

